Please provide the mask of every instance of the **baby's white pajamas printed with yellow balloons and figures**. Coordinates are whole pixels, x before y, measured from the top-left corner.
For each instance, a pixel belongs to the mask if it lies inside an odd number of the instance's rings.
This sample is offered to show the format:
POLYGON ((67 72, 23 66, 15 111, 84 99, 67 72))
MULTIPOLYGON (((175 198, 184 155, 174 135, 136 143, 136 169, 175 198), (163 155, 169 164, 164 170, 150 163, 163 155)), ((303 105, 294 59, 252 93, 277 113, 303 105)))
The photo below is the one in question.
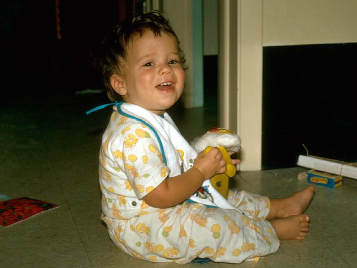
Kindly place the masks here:
POLYGON ((119 249, 138 259, 186 264, 196 257, 241 263, 279 248, 264 220, 267 197, 229 191, 228 201, 243 212, 188 202, 168 209, 146 204, 142 198, 169 175, 159 148, 150 128, 113 112, 103 134, 99 177, 102 219, 119 249))

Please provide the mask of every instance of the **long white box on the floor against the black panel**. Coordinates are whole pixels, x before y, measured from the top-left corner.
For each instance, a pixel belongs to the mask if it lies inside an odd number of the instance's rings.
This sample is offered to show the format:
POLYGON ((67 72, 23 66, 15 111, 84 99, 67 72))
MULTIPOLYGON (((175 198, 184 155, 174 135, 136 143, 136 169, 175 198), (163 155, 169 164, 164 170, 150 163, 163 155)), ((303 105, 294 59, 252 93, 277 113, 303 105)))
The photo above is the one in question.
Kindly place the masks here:
POLYGON ((299 155, 298 166, 357 179, 357 164, 318 156, 299 155))

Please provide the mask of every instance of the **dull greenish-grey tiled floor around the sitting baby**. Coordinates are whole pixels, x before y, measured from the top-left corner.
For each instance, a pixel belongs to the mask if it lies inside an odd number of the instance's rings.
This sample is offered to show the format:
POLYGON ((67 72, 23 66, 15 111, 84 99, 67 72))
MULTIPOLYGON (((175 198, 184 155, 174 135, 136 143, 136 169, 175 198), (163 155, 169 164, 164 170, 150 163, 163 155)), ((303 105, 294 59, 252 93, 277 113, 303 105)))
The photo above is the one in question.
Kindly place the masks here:
MULTIPOLYGON (((60 205, 9 228, 0 227, 0 267, 179 267, 126 256, 115 248, 100 220, 97 166, 101 133, 110 108, 85 111, 108 102, 104 95, 55 95, 2 103, 0 107, 0 194, 28 196, 60 205)), ((217 124, 209 109, 174 109, 187 139, 217 124)), ((283 197, 303 189, 303 168, 239 172, 231 187, 283 197)), ((308 237, 283 241, 275 254, 239 267, 356 267, 357 180, 336 190, 317 187, 307 210, 308 237)), ((202 267, 228 268, 207 263, 202 267)), ((237 265, 238 266, 238 265, 237 265)), ((186 267, 201 267, 189 264, 186 267)))

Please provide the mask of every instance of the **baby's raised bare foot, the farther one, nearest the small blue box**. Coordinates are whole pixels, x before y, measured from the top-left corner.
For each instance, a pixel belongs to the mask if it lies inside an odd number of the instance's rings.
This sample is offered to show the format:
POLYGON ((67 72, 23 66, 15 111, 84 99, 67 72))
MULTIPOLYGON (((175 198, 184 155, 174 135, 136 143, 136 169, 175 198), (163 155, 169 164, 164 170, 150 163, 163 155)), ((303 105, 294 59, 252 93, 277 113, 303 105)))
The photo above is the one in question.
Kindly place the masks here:
POLYGON ((293 195, 284 198, 285 211, 282 217, 288 217, 291 215, 300 215, 303 213, 310 204, 312 197, 314 196, 315 186, 311 185, 306 187, 302 191, 298 191, 293 195))

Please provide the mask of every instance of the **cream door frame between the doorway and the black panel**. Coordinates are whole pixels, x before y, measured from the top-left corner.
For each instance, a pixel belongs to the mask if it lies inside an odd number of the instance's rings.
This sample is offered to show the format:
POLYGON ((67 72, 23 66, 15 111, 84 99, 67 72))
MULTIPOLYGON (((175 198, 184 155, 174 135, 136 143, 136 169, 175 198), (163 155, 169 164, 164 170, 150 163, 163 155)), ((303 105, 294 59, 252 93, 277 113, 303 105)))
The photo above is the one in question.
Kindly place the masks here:
POLYGON ((263 0, 222 0, 220 123, 240 135, 241 170, 262 168, 263 0))

